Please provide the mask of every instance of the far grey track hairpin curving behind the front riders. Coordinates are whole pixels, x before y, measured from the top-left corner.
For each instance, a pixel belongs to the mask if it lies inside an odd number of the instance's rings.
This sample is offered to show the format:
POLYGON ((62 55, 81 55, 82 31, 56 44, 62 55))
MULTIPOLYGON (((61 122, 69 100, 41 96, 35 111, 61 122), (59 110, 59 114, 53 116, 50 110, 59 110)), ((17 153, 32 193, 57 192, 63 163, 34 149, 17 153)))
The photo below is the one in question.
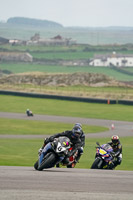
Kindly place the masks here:
MULTIPOLYGON (((105 126, 109 128, 109 131, 100 133, 86 133, 87 137, 111 137, 112 134, 117 134, 120 137, 133 136, 133 122, 115 121, 115 120, 103 120, 103 119, 90 119, 79 117, 64 117, 64 116, 50 116, 50 115, 34 115, 33 117, 27 117, 23 113, 8 113, 0 112, 0 118, 10 119, 24 119, 24 120, 41 120, 41 121, 53 121, 62 123, 76 123, 80 122, 87 125, 105 126), (112 124, 114 129, 112 129, 112 124)), ((0 138, 44 138, 44 135, 0 135, 0 138)), ((45 135, 45 137, 47 137, 45 135)))

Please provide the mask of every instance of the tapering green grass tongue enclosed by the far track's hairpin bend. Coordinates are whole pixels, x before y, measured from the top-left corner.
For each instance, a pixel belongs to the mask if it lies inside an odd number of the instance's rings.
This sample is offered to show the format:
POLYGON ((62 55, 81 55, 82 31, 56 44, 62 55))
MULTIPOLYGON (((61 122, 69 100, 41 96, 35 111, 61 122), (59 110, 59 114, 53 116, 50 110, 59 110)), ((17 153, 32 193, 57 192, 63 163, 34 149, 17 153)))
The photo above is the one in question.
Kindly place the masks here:
MULTIPOLYGON (((73 124, 67 123, 0 118, 0 134, 52 135, 61 133, 64 130, 71 130, 72 127, 73 124)), ((97 133, 108 130, 108 128, 101 126, 83 125, 83 128, 85 133, 97 133)))

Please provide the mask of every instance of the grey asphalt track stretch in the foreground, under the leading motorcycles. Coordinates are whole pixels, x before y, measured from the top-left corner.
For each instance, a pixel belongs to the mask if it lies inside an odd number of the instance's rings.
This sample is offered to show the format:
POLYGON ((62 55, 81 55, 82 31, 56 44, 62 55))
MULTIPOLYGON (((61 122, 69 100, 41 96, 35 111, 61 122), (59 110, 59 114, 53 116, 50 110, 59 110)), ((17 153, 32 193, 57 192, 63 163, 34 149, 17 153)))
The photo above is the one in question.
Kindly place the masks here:
POLYGON ((0 200, 133 199, 133 171, 0 166, 0 200))

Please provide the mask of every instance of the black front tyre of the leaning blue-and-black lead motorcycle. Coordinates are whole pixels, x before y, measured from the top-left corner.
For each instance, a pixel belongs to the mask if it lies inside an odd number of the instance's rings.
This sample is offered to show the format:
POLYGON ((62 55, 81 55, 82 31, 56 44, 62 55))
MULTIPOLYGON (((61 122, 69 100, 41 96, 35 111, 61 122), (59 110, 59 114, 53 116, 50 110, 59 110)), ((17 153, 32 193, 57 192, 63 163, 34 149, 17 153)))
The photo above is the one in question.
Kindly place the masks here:
POLYGON ((50 152, 46 155, 40 167, 38 167, 38 170, 42 171, 43 169, 54 167, 54 165, 56 164, 56 161, 57 161, 56 155, 50 152))

